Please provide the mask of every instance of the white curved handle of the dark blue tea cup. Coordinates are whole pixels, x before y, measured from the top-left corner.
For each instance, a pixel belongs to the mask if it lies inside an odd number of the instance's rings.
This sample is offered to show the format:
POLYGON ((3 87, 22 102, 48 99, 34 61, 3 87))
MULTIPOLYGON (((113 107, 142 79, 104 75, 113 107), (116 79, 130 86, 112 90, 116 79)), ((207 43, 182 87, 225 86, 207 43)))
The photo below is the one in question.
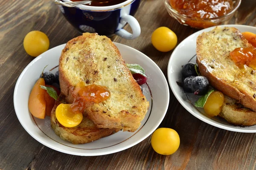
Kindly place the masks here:
POLYGON ((121 17, 120 23, 125 25, 126 22, 130 25, 132 29, 132 34, 122 28, 119 31, 116 31, 115 34, 128 40, 132 40, 134 38, 139 37, 140 36, 139 22, 131 15, 124 15, 121 17))

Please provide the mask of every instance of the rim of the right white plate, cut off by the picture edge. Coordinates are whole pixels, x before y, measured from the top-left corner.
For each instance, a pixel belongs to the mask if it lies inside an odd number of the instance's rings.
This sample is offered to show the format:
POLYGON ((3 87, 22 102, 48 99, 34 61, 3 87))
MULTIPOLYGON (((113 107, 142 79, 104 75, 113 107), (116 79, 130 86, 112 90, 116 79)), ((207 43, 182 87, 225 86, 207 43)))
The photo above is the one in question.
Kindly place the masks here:
MULTIPOLYGON (((205 28, 205 29, 202 29, 202 30, 199 30, 199 31, 196 31, 195 33, 189 35, 188 37, 186 37, 183 41, 181 41, 179 43, 179 45, 177 45, 177 47, 175 48, 175 50, 172 52, 171 56, 170 56, 170 59, 169 59, 169 62, 168 62, 168 67, 167 67, 167 77, 168 77, 168 82, 169 82, 169 85, 170 85, 170 88, 172 90, 172 93, 175 95, 176 99, 178 100, 178 102, 183 106, 183 108, 186 109, 186 111, 188 111, 189 113, 191 113, 193 116, 195 116, 196 118, 200 119, 201 121, 209 124, 209 125, 212 125, 212 126, 215 126, 215 127, 218 127, 218 128, 221 128, 221 129, 224 129, 224 130, 229 130, 229 131, 233 131, 233 132, 241 132, 241 133, 256 133, 256 130, 253 130, 253 129, 244 129, 244 127, 241 127, 241 129, 237 129, 237 128, 233 128, 231 127, 231 125, 224 125, 220 122, 220 125, 218 123, 216 123, 215 120, 211 119, 210 120, 207 120, 205 119, 203 116, 200 116, 198 115, 197 113, 195 113, 194 111, 192 111, 187 105, 185 102, 183 102, 183 100, 180 98, 180 94, 178 94, 176 91, 175 91, 175 88, 174 88, 174 85, 173 85, 173 82, 171 82, 171 66, 172 66, 172 60, 175 56, 175 53, 176 51, 178 51, 178 49, 180 48, 180 46, 182 45, 182 42, 184 41, 187 41, 189 40, 189 38, 191 38, 192 36, 195 36, 195 34, 198 34, 198 32, 204 32, 204 31, 208 31, 208 30, 211 30, 213 28, 215 28, 216 26, 212 26, 212 27, 209 27, 209 28, 205 28)), ((253 27, 253 26, 245 26, 245 25, 234 25, 234 24, 228 24, 228 25, 221 25, 219 27, 235 27, 237 29, 239 29, 239 27, 245 27, 245 28, 253 28, 255 29, 256 31, 256 27, 253 27)), ((195 107, 195 106, 194 106, 195 107)), ((198 111, 199 112, 199 111, 198 111)), ((201 113, 201 112, 200 112, 201 113)), ((202 113, 201 113, 202 114, 202 113)))

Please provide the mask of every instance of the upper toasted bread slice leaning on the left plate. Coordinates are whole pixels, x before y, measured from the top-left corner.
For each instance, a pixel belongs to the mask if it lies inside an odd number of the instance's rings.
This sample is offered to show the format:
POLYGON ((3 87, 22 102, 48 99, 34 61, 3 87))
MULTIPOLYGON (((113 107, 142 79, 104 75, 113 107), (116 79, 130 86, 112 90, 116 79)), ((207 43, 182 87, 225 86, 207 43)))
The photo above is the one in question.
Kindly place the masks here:
POLYGON ((99 128, 134 132, 148 111, 140 86, 108 37, 84 33, 67 42, 59 60, 59 80, 69 103, 75 98, 74 86, 81 81, 108 88, 109 99, 90 104, 84 111, 99 128))

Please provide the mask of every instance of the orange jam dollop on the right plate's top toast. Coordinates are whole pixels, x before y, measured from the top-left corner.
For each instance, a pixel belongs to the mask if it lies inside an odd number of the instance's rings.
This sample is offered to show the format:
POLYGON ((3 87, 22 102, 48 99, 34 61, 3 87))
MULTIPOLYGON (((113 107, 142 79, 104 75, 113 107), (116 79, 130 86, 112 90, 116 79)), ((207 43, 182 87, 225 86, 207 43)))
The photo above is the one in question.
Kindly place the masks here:
POLYGON ((256 69, 256 48, 253 46, 236 48, 230 52, 230 57, 239 68, 244 68, 244 65, 247 65, 256 69))

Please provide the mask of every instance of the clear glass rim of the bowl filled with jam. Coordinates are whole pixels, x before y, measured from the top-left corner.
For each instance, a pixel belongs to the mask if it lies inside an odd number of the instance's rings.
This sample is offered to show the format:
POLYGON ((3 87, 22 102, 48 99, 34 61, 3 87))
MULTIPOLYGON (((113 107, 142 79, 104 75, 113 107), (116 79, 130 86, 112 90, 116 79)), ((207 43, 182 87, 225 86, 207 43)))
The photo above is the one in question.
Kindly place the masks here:
POLYGON ((200 20, 200 21, 214 21, 214 20, 220 20, 222 18, 225 18, 225 17, 228 17, 230 15, 232 15, 233 13, 236 12, 236 10, 239 8, 239 6, 241 5, 241 1, 242 0, 238 0, 238 3, 236 5, 235 8, 233 8, 229 13, 225 14, 225 15, 222 15, 220 17, 215 17, 215 18, 194 18, 194 17, 188 17, 184 14, 180 14, 177 10, 175 10, 171 4, 169 3, 169 0, 163 0, 164 1, 164 4, 167 8, 167 10, 171 11, 172 13, 175 13, 176 15, 178 15, 179 17, 184 17, 186 19, 189 19, 189 20, 200 20))

